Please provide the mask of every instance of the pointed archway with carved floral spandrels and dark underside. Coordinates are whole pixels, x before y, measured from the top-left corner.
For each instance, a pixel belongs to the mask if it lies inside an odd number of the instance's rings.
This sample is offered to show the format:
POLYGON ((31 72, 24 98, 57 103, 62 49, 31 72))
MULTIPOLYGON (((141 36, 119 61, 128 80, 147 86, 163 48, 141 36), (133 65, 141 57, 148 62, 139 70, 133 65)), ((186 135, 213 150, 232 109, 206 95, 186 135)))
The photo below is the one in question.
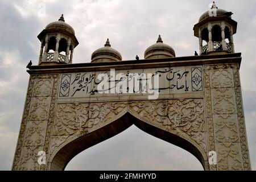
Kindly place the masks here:
POLYGON ((55 117, 48 167, 51 170, 63 170, 68 162, 81 151, 135 125, 156 138, 191 152, 199 159, 204 169, 208 170, 204 141, 205 122, 201 101, 160 100, 59 105, 55 117), (89 108, 89 113, 86 113, 86 108, 89 108), (73 119, 76 122, 72 124, 69 122, 64 126, 63 124, 67 123, 64 120, 68 120, 65 118, 68 118, 70 113, 76 113, 75 116, 71 116, 76 118, 73 119), (84 114, 89 115, 87 122, 77 122, 80 118, 86 117, 84 114), (186 122, 186 119, 192 122, 186 122), (72 131, 75 135, 68 137, 60 135, 67 134, 73 126, 76 129, 80 126, 79 134, 76 135, 76 131, 72 131), (58 142, 61 144, 56 144, 58 142))

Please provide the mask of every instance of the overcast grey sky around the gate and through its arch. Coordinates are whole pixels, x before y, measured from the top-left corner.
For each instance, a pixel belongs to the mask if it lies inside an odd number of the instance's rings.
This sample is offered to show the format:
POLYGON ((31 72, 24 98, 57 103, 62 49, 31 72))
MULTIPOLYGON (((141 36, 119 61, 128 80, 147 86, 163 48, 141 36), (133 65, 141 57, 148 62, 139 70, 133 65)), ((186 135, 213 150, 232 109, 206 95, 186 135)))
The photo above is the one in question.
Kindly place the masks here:
MULTIPOLYGON (((92 52, 109 38, 123 60, 143 58, 158 35, 175 49, 176 56, 199 49, 193 25, 208 10, 210 1, 186 0, 0 0, 0 169, 10 170, 22 118, 29 75, 29 60, 38 63, 36 36, 64 14, 80 44, 73 63, 88 63, 92 52)), ((256 1, 216 1, 218 8, 233 11, 238 22, 236 52, 242 52, 240 69, 251 166, 256 169, 256 1)), ((202 170, 189 152, 131 126, 123 133, 81 152, 67 170, 163 169, 202 170)))

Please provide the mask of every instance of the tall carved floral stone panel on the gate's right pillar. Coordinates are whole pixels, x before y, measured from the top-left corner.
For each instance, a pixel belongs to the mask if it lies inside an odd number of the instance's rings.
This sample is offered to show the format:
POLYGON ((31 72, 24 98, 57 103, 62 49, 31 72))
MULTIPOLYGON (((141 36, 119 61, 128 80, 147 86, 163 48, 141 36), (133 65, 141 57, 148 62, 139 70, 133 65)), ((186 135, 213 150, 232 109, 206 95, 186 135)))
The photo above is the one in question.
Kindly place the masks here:
MULTIPOLYGON (((217 142, 217 169, 243 170, 232 67, 210 67, 214 138, 217 142)), ((239 105, 239 104, 238 104, 239 105)))

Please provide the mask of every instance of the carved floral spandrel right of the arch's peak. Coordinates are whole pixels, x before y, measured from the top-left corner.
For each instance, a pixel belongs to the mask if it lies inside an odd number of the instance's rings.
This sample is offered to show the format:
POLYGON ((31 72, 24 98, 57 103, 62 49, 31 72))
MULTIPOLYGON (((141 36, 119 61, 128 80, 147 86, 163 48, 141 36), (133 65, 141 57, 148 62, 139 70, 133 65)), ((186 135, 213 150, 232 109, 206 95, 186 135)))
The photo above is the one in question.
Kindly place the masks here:
POLYGON ((179 99, 158 101, 131 101, 131 114, 181 137, 190 138, 203 150, 205 145, 205 116, 202 99, 179 99))

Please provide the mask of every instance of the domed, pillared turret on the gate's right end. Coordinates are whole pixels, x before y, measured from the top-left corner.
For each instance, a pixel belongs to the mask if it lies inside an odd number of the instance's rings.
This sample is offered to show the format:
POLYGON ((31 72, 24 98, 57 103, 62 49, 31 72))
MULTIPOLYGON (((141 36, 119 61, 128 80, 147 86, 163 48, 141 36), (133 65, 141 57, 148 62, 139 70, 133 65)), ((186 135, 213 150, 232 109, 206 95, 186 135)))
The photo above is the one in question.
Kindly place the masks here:
POLYGON ((237 22, 232 14, 218 9, 213 2, 210 10, 201 15, 193 28, 194 35, 199 38, 200 55, 235 52, 233 34, 237 32, 237 22))

